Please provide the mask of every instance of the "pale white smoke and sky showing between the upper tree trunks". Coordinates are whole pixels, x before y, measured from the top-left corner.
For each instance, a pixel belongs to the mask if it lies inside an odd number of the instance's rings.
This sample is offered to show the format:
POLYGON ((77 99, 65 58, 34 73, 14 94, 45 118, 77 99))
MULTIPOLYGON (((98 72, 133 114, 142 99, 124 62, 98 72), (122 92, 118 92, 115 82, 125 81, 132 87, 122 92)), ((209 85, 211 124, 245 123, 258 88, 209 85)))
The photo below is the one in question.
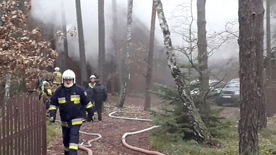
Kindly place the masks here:
MULTIPOLYGON (((66 14, 66 27, 67 31, 73 30, 74 27, 77 27, 76 19, 76 8, 75 0, 32 0, 32 16, 37 20, 42 21, 45 26, 54 25, 56 30, 62 30, 61 24, 61 2, 64 2, 65 14, 66 14)), ((105 30, 106 30, 106 57, 110 59, 110 56, 113 55, 113 43, 111 41, 112 31, 112 1, 105 1, 105 30)), ((191 1, 185 1, 187 4, 191 1)), ((172 18, 173 10, 179 4, 183 4, 181 0, 174 1, 163 1, 165 15, 168 19, 168 24, 170 29, 177 25, 176 18, 172 18)), ((196 19, 196 1, 193 3, 193 14, 196 19)), ((127 1, 126 0, 117 0, 117 8, 119 18, 122 21, 126 20, 126 9, 127 1)), ((144 23, 145 32, 149 32, 150 28, 150 17, 151 17, 151 7, 152 1, 149 0, 139 0, 134 1, 133 6, 133 22, 140 21, 144 23)), ((83 29, 84 29, 84 40, 85 40, 85 50, 86 50, 86 59, 87 62, 93 66, 98 64, 98 1, 81 1, 82 9, 82 19, 83 19, 83 29)), ((181 11, 180 11, 181 12, 181 11)), ((183 16, 187 14, 182 14, 183 16)), ((228 21, 237 21, 238 19, 238 0, 225 1, 225 0, 210 0, 206 2, 206 29, 208 34, 218 33, 224 30, 225 24, 228 21)), ((156 19, 156 39, 162 43, 163 34, 160 31, 158 19, 156 19)), ((119 26, 124 25, 124 22, 119 23, 119 26)), ((193 25, 194 30, 196 31, 196 20, 193 25)), ((236 28, 237 29, 237 28, 236 28)), ((120 38, 124 38, 124 32, 120 33, 120 38)), ((173 45, 181 45, 182 39, 181 36, 172 33, 172 43, 173 45)), ((78 50, 78 37, 71 37, 70 34, 67 34, 68 38, 68 53, 75 60, 79 59, 79 50, 78 50)), ((62 40, 58 42, 58 50, 62 50, 62 40)), ((227 59, 227 58, 238 58, 238 44, 234 42, 231 45, 227 45, 218 50, 211 59, 227 59)))

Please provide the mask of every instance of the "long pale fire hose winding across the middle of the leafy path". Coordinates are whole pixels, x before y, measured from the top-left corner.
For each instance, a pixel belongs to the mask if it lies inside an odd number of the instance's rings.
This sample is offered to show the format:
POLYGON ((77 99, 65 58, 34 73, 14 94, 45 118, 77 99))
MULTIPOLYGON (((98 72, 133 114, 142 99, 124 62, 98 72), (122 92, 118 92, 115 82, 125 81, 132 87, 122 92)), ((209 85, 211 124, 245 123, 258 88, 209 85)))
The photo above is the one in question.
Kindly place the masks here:
MULTIPOLYGON (((112 117, 112 118, 120 118, 120 119, 127 119, 127 120, 152 121, 151 119, 128 118, 128 117, 112 116, 112 115, 115 114, 115 113, 116 113, 116 111, 111 112, 110 114, 108 114, 108 116, 109 116, 109 117, 112 117)), ((127 137, 128 135, 141 134, 141 133, 144 133, 144 132, 146 132, 146 131, 153 130, 154 128, 160 127, 160 126, 161 126, 161 125, 155 125, 155 126, 151 126, 151 127, 145 128, 145 129, 140 130, 140 131, 136 131, 136 132, 132 132, 132 133, 125 133, 125 134, 122 136, 122 143, 123 143, 123 145, 124 145, 126 148, 129 148, 129 149, 132 149, 132 150, 135 150, 135 151, 139 151, 139 152, 142 152, 142 153, 152 154, 152 155, 165 155, 165 154, 160 153, 160 152, 146 150, 146 149, 143 149, 143 148, 131 146, 131 145, 129 145, 129 144, 126 143, 126 137, 127 137)))

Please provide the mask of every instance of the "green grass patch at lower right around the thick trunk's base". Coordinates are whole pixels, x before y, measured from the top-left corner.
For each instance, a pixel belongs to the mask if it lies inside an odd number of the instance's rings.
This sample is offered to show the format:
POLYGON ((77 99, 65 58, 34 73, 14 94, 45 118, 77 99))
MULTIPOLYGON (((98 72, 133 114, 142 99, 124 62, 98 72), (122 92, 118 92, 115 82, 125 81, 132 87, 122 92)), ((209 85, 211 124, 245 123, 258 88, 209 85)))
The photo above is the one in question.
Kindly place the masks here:
MULTIPOLYGON (((227 128, 221 128, 214 141, 218 146, 200 145, 195 141, 182 140, 174 134, 167 134, 161 130, 155 130, 149 138, 152 147, 162 152, 172 155, 238 155, 239 154, 239 134, 238 118, 226 120, 231 123, 227 128)), ((261 155, 276 154, 276 117, 268 119, 268 126, 259 132, 259 150, 261 155)))

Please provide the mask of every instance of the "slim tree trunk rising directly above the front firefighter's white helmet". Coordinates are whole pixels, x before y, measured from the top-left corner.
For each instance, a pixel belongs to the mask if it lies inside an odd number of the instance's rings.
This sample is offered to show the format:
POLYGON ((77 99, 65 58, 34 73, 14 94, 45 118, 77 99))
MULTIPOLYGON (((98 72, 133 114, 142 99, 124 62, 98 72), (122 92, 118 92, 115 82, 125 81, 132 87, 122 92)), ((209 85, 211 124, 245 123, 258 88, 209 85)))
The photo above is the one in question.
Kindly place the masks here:
POLYGON ((67 30, 66 30, 66 16, 64 8, 64 0, 61 1, 61 20, 62 20, 62 33, 63 33, 63 51, 61 55, 61 70, 66 69, 66 58, 68 56, 68 43, 67 43, 67 30))

